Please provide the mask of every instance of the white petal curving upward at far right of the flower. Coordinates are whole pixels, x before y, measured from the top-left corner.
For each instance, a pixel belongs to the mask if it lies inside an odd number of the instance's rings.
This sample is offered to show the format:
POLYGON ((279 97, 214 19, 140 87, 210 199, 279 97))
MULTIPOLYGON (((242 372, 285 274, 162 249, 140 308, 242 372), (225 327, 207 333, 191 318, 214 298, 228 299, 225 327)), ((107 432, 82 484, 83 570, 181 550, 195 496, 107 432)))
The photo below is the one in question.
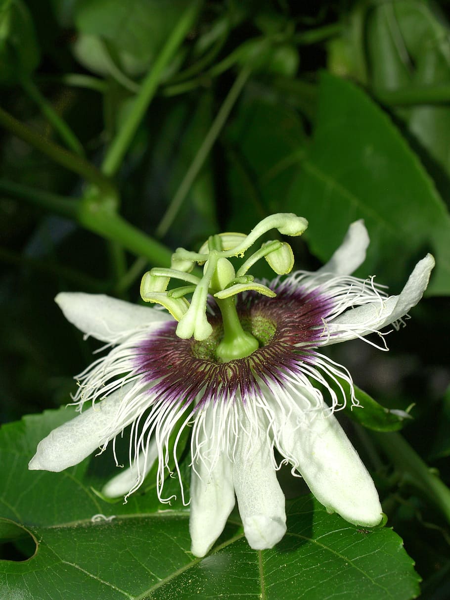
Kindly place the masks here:
POLYGON ((422 298, 433 267, 434 258, 427 254, 424 259, 419 260, 399 296, 389 296, 382 299, 382 302, 371 302, 340 314, 328 323, 329 333, 338 332, 338 335, 331 335, 322 345, 353 340, 361 335, 379 331, 389 323, 404 317, 422 298))

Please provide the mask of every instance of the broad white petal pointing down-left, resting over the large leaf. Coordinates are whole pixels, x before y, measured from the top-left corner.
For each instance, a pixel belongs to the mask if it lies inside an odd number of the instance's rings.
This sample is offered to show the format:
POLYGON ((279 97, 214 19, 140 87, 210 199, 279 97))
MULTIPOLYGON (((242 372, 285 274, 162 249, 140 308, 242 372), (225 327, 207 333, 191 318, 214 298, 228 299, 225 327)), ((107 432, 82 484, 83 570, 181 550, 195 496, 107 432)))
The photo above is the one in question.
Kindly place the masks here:
MULTIPOLYGON (((105 432, 114 424, 128 389, 129 386, 124 386, 81 415, 56 427, 38 443, 36 454, 29 461, 28 469, 62 471, 80 463, 114 437, 114 434, 105 437, 105 432)), ((134 413, 131 414, 128 422, 133 421, 135 416, 134 413)))

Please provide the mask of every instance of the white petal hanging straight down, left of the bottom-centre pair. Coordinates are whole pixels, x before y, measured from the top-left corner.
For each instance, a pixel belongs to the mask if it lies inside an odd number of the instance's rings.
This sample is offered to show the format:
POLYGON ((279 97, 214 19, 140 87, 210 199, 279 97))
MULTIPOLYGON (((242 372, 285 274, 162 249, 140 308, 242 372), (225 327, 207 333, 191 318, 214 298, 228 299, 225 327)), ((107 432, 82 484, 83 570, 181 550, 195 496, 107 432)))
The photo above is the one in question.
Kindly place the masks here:
POLYGON ((204 427, 199 428, 197 437, 202 458, 193 462, 191 470, 189 531, 191 552, 195 556, 208 553, 235 505, 232 463, 226 452, 217 456, 217 424, 214 421, 214 406, 211 404, 205 409, 204 427))

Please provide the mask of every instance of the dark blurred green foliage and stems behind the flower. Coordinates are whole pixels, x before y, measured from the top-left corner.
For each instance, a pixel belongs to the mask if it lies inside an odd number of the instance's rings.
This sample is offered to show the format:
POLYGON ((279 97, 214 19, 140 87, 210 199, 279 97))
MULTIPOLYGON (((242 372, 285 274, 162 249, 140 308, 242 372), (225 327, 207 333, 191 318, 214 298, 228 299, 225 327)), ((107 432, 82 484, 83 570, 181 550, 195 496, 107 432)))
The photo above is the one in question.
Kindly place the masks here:
MULTIPOLYGON (((296 268, 314 269, 364 218, 358 275, 398 293, 427 251, 437 266, 389 354, 356 341, 332 356, 410 410, 404 435, 449 482, 448 8, 0 0, 1 421, 67 403, 90 361, 59 291, 139 301, 170 251, 272 212, 308 218, 296 268)), ((383 508, 424 597, 445 598, 448 525, 397 475, 379 469, 383 508)))

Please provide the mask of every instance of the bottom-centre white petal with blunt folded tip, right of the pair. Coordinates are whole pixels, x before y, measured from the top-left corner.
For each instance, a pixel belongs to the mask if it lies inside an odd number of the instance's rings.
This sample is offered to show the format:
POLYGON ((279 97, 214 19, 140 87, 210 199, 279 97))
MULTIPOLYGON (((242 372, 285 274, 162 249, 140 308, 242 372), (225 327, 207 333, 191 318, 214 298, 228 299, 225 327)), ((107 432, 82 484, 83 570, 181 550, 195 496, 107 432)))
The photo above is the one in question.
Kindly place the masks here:
POLYGON ((248 544, 254 550, 265 550, 273 548, 286 533, 284 494, 265 427, 259 421, 252 430, 241 412, 233 483, 248 544))

